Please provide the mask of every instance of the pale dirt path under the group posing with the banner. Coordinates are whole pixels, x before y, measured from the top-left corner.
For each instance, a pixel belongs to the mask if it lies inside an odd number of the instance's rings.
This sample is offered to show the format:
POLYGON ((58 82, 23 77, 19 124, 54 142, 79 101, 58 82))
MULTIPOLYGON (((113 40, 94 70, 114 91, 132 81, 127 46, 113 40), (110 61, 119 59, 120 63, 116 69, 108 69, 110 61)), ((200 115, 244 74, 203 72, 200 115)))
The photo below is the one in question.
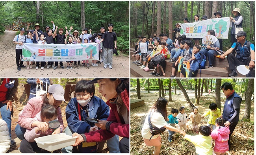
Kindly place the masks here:
MULTIPOLYGON (((3 51, 0 53, 0 57, 2 61, 0 61, 0 76, 8 77, 8 78, 109 78, 109 77, 129 77, 129 57, 125 57, 122 55, 113 57, 113 69, 109 68, 104 69, 103 63, 97 67, 90 66, 74 68, 72 70, 67 70, 67 64, 63 62, 65 69, 57 68, 54 70, 52 67, 49 69, 35 70, 35 65, 33 65, 33 69, 21 68, 21 71, 17 70, 16 66, 16 56, 15 56, 15 44, 12 43, 13 38, 15 37, 15 31, 5 31, 4 35, 0 36, 0 49, 3 51)), ((91 64, 91 61, 90 63, 91 64)), ((23 63, 26 66, 26 62, 23 63)))

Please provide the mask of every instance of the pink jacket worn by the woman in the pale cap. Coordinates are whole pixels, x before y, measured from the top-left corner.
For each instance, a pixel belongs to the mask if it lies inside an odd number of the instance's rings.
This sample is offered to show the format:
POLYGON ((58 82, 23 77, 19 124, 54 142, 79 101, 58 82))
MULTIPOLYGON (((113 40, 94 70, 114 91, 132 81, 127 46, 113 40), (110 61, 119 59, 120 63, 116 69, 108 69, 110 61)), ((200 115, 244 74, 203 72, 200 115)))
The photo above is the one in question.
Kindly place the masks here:
MULTIPOLYGON (((26 129, 32 129, 31 125, 35 120, 35 115, 41 111, 41 107, 43 104, 43 96, 34 97, 28 100, 27 105, 24 107, 24 109, 19 114, 19 120, 18 123, 21 127, 26 129)), ((60 107, 56 108, 58 113, 58 120, 60 122, 61 131, 64 129, 63 120, 62 120, 62 114, 60 107)))

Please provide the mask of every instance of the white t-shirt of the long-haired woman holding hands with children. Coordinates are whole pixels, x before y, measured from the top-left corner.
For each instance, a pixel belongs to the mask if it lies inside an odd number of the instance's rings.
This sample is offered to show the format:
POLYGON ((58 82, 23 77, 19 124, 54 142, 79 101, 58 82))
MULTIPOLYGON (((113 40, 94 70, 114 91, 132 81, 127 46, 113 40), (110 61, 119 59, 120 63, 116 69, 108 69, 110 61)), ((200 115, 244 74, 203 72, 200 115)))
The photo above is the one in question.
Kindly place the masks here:
MULTIPOLYGON (((158 111, 154 111, 152 114, 152 112, 151 112, 151 123, 153 126, 161 128, 161 127, 167 125, 167 122, 165 121, 165 119, 163 118, 163 115, 161 113, 159 113, 158 111)), ((145 119, 144 125, 141 130, 141 135, 145 139, 150 139, 150 137, 152 136, 152 134, 150 133, 149 124, 148 124, 148 114, 147 114, 147 117, 145 119)), ((155 139, 158 136, 159 135, 154 135, 151 139, 155 139)))

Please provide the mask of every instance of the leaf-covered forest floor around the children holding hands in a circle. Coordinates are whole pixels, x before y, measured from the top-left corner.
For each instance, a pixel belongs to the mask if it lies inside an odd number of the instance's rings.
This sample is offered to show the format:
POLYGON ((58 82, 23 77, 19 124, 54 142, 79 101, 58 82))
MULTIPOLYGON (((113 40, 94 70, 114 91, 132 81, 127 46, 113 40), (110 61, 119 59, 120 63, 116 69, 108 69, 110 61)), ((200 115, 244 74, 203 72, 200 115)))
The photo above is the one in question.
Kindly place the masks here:
MULTIPOLYGON (((190 100, 192 103, 195 103, 195 97, 193 91, 187 91, 190 100)), ((131 109, 130 120, 131 120, 131 154, 132 155, 152 155, 154 151, 153 146, 146 146, 143 137, 141 136, 141 129, 145 122, 146 115, 152 105, 158 99, 158 92, 141 93, 141 100, 145 100, 145 105, 141 107, 137 107, 131 109)), ((165 96, 167 100, 169 100, 169 94, 165 96)), ((137 92, 131 92, 131 101, 137 100, 137 92)), ((182 105, 185 106, 185 112, 187 115, 191 113, 186 103, 186 99, 183 97, 181 92, 176 95, 172 95, 172 102, 167 104, 167 112, 168 115, 171 114, 171 108, 179 109, 182 105)), ((221 94, 221 111, 223 111, 223 106, 226 98, 223 94, 221 94)), ((198 108, 198 112, 203 114, 209 108, 210 103, 215 102, 215 94, 207 94, 204 93, 203 96, 200 97, 200 104, 196 105, 198 108)), ((132 102, 131 102, 132 103, 132 102)), ((243 118, 245 109, 245 101, 243 97, 243 101, 241 103, 240 116, 239 120, 243 118)), ((207 124, 208 116, 201 119, 200 125, 207 124)), ((232 143, 232 148, 226 153, 226 155, 254 155, 254 100, 251 105, 250 112, 250 122, 239 121, 237 124, 232 137, 230 138, 230 142, 232 143)), ((178 127, 178 125, 176 126, 178 127)), ((195 132, 192 131, 191 121, 187 122, 187 134, 196 135, 195 132)), ((195 146, 185 140, 183 135, 179 133, 175 133, 173 135, 173 140, 170 143, 168 141, 169 133, 167 130, 161 134, 162 137, 162 147, 161 147, 161 155, 195 155, 195 146)), ((212 143, 214 148, 214 140, 212 143)))

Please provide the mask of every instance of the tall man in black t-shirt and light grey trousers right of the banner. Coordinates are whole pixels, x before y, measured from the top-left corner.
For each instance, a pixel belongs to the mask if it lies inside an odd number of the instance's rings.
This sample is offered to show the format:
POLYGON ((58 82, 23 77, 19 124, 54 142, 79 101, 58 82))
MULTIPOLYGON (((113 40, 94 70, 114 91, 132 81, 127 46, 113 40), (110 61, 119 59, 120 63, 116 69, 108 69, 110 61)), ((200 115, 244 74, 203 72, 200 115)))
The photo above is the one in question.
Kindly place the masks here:
MULTIPOLYGON (((104 33, 102 36, 102 40, 100 42, 103 42, 104 40, 104 67, 109 69, 112 69, 112 63, 113 63, 113 49, 117 49, 117 35, 115 32, 113 32, 113 24, 108 24, 108 31, 104 33), (115 47, 114 47, 115 45, 115 47)), ((98 42, 98 43, 100 43, 98 42)))

